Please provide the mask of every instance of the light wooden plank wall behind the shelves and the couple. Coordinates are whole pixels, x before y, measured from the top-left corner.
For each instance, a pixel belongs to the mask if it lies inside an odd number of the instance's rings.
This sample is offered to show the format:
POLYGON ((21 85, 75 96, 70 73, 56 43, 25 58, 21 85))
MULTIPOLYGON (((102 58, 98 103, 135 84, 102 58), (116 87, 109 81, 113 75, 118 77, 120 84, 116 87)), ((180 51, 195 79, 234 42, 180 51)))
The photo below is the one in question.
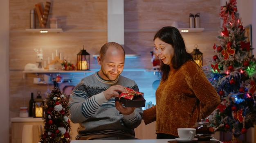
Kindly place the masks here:
MULTIPOLYGON (((30 33, 29 12, 36 3, 45 5, 47 0, 9 0, 9 71, 10 71, 10 118, 19 116, 19 108, 27 106, 30 93, 46 91, 47 85, 33 84, 35 74, 23 74, 27 63, 35 63, 34 48, 43 49, 44 61, 61 52, 62 58, 76 63, 76 54, 82 50, 90 53, 90 69, 98 69, 92 54, 107 42, 107 0, 49 0, 49 18, 60 19, 61 33, 30 33), (23 79, 23 76, 25 78, 23 79)), ((140 54, 139 58, 126 59, 125 68, 151 69, 150 51, 153 36, 162 26, 177 22, 180 28, 189 27, 189 13, 200 13, 203 32, 182 33, 188 52, 194 45, 203 53, 203 64, 214 55, 213 45, 218 43, 220 20, 219 0, 124 0, 125 44, 140 54)), ((38 20, 36 21, 36 28, 38 20)), ((49 28, 49 19, 47 22, 49 28)), ((139 77, 136 77, 139 78, 139 77)), ((146 82, 146 81, 145 81, 146 82)), ((51 87, 52 88, 52 85, 51 87)))

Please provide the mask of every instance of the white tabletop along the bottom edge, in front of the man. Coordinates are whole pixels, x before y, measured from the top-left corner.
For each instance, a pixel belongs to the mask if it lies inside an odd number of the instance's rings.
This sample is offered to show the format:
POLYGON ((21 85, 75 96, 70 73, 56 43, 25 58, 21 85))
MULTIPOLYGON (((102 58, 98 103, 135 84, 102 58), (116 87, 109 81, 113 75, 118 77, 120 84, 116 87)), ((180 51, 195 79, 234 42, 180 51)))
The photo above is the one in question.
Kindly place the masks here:
MULTIPOLYGON (((168 141, 175 141, 175 139, 72 140, 71 143, 167 143, 168 141)), ((223 142, 220 141, 220 143, 223 142)))

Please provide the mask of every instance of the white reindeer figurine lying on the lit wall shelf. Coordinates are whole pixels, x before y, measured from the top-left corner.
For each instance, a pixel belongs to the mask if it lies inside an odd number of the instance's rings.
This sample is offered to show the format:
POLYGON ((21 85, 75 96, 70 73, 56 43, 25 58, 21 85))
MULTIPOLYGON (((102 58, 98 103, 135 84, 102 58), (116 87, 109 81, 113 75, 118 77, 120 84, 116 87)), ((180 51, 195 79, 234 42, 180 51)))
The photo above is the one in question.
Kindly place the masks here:
POLYGON ((34 48, 34 51, 36 52, 36 63, 28 63, 25 65, 24 70, 25 71, 33 71, 33 70, 44 70, 42 66, 43 61, 43 49, 40 48, 40 50, 34 48))

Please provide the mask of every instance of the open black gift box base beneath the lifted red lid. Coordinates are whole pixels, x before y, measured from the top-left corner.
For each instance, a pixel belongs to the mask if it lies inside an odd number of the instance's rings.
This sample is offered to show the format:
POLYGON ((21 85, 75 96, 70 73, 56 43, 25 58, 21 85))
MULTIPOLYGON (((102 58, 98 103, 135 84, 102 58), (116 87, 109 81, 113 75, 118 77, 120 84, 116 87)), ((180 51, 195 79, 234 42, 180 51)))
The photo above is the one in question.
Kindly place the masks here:
POLYGON ((145 107, 146 100, 143 95, 136 95, 132 100, 126 99, 124 97, 115 98, 115 101, 119 101, 121 104, 124 104, 126 107, 145 107))

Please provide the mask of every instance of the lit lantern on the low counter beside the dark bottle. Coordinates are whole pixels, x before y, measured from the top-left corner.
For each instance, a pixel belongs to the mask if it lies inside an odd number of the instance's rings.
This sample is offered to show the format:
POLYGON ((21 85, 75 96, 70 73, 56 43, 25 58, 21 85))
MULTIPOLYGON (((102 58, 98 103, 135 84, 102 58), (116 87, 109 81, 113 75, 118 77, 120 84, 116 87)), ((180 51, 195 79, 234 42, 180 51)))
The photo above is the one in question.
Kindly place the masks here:
POLYGON ((33 102, 33 117, 43 117, 44 115, 44 100, 40 96, 41 91, 38 91, 38 96, 33 102))

